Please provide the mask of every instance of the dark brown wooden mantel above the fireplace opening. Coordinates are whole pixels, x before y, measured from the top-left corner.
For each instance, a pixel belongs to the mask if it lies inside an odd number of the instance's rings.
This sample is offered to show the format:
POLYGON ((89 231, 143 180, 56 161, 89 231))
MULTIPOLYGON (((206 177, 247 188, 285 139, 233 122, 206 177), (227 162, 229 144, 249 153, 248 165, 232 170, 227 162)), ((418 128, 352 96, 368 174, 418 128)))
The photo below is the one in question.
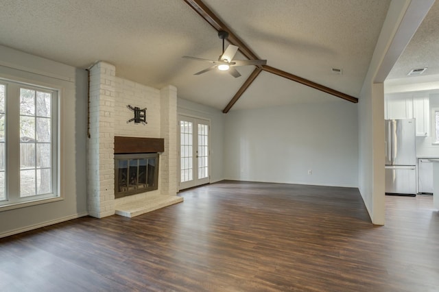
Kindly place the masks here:
POLYGON ((165 151, 163 138, 115 136, 115 154, 154 153, 165 151))

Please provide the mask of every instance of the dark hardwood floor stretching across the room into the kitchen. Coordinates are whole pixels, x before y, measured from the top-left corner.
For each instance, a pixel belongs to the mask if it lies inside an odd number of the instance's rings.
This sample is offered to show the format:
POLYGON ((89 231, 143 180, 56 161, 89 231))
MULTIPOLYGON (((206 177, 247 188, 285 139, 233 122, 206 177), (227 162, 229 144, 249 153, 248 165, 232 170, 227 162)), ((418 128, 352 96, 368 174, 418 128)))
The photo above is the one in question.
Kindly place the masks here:
POLYGON ((439 291, 431 196, 220 182, 128 219, 83 217, 0 239, 0 291, 439 291))

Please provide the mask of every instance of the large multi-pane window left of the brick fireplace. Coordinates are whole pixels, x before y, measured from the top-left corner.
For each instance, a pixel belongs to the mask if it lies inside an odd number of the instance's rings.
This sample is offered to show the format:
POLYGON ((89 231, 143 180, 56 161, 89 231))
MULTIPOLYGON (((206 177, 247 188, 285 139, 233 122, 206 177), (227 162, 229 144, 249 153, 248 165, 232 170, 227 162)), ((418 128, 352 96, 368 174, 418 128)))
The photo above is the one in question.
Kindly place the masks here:
POLYGON ((0 80, 0 207, 58 197, 58 91, 0 80))

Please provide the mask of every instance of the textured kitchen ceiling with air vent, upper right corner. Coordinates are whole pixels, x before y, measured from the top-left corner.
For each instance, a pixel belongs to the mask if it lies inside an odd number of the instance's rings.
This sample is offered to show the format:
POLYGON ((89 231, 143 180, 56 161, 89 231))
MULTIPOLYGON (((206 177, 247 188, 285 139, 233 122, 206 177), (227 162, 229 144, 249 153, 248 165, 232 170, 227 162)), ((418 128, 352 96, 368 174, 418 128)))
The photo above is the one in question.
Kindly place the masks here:
MULTIPOLYGON (((388 75, 405 78, 412 69, 427 67, 423 75, 439 75, 439 1, 431 6, 412 40, 388 75)), ((408 82, 408 81, 407 81, 408 82)))

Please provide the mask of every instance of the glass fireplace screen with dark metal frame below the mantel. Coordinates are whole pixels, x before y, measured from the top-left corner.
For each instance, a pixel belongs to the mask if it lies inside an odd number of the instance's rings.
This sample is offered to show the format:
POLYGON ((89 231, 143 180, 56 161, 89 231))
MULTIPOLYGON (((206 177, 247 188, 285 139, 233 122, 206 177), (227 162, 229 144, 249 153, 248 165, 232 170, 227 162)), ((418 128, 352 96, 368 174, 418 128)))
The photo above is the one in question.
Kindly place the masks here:
POLYGON ((115 197, 158 189, 158 154, 115 154, 115 197))

